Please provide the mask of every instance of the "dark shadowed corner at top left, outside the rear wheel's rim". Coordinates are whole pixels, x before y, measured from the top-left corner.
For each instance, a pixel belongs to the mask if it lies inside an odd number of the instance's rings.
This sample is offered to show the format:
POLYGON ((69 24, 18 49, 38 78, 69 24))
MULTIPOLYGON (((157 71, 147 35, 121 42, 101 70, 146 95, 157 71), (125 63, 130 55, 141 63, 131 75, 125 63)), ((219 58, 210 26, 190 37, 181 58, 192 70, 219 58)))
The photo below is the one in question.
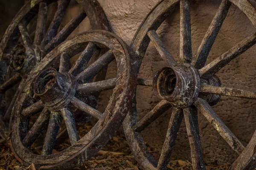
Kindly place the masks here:
POLYGON ((23 6, 26 0, 0 0, 0 37, 6 31, 6 28, 12 22, 17 12, 23 6))

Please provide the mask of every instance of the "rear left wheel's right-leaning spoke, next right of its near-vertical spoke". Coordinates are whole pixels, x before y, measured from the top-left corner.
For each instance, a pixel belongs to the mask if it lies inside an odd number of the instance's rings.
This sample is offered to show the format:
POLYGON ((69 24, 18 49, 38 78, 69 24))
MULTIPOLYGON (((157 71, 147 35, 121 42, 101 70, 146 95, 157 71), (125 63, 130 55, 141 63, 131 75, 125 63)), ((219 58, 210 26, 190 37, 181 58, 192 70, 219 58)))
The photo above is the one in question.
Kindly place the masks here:
POLYGON ((65 14, 65 11, 67 9, 68 4, 70 3, 70 0, 61 0, 61 3, 58 6, 58 9, 52 19, 52 22, 44 36, 43 41, 41 42, 41 45, 44 47, 49 43, 53 37, 56 36, 58 32, 58 28, 61 24, 61 20, 65 14))

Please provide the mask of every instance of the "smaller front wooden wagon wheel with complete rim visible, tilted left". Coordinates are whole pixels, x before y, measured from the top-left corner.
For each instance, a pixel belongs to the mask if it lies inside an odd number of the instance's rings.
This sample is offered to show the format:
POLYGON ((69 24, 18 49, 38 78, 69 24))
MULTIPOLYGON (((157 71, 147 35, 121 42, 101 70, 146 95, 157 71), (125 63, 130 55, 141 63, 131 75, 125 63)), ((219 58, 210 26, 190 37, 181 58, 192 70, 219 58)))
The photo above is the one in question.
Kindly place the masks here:
POLYGON ((128 45, 115 35, 107 31, 90 31, 67 40, 47 54, 32 70, 13 109, 15 120, 10 145, 15 157, 25 165, 33 163, 42 169, 70 169, 94 156, 112 138, 131 107, 136 74, 131 71, 134 61, 128 50, 128 45), (90 45, 95 44, 109 50, 86 67, 94 52, 90 50, 90 45), (80 52, 69 69, 70 57, 80 52), (93 77, 115 59, 118 78, 92 82, 93 77), (49 68, 57 61, 60 61, 58 71, 49 68), (79 96, 109 89, 113 89, 113 94, 104 113, 79 99, 79 96), (34 95, 41 99, 35 101, 34 95), (77 135, 74 108, 98 119, 81 139, 77 135), (40 111, 38 119, 28 130, 29 117, 40 111), (62 120, 72 146, 52 154, 62 120), (30 146, 44 128, 47 128, 44 145, 41 155, 37 155, 32 153, 30 146))

